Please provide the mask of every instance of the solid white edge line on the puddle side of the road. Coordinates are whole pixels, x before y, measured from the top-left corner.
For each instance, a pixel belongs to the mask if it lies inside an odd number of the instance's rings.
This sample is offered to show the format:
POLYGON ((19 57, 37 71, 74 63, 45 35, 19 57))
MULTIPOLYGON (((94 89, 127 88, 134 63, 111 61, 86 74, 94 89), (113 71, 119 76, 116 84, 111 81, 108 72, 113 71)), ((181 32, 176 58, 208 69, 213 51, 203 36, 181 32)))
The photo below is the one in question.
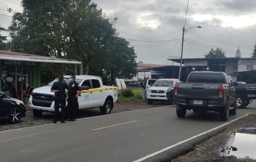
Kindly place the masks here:
POLYGON ((143 160, 146 160, 146 159, 148 159, 148 158, 151 158, 152 156, 155 156, 155 155, 157 155, 157 154, 159 154, 159 153, 162 153, 162 152, 164 152, 164 151, 167 151, 168 149, 171 149, 171 148, 173 148, 173 147, 175 147, 175 146, 178 146, 178 145, 180 145, 180 144, 182 144, 182 143, 185 143, 185 142, 187 142, 187 141, 189 141, 189 140, 191 140, 191 139, 195 139, 196 137, 202 136, 202 135, 204 135, 204 134, 206 134, 206 133, 208 133, 208 132, 211 132, 211 131, 213 131, 213 130, 217 130, 217 129, 223 127, 223 126, 226 126, 227 124, 230 124, 230 123, 232 123, 232 122, 234 122, 234 121, 236 121, 236 120, 238 120, 238 119, 241 119, 241 118, 243 118, 243 117, 245 117, 245 116, 247 116, 247 115, 249 115, 249 114, 250 114, 250 113, 247 113, 247 114, 245 114, 245 115, 243 115, 243 116, 241 116, 241 117, 239 117, 239 118, 236 118, 236 119, 234 119, 234 120, 231 120, 231 121, 228 122, 228 123, 222 124, 222 125, 217 126, 217 127, 213 128, 213 129, 210 129, 210 130, 207 130, 207 131, 202 132, 202 133, 200 133, 200 134, 197 134, 197 135, 195 135, 195 136, 193 136, 193 137, 190 137, 189 139, 185 139, 185 140, 183 140, 183 141, 180 141, 180 142, 178 142, 178 143, 176 143, 176 144, 174 144, 174 145, 171 145, 171 146, 169 146, 169 147, 166 147, 166 148, 164 148, 164 149, 161 149, 161 150, 159 150, 159 151, 156 151, 156 152, 154 152, 154 153, 151 153, 150 155, 145 156, 145 157, 143 157, 143 158, 140 158, 140 159, 138 159, 138 160, 135 160, 135 161, 133 161, 133 162, 141 162, 141 161, 143 161, 143 160))

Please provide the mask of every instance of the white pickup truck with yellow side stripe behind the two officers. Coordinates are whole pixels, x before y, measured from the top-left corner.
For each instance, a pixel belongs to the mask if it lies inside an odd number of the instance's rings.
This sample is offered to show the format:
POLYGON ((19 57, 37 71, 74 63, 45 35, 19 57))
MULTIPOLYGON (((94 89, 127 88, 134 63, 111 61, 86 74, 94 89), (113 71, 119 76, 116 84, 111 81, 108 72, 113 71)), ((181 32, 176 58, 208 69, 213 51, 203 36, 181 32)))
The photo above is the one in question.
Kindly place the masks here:
MULTIPOLYGON (((69 75, 64 76, 64 80, 69 83, 69 75)), ((32 91, 29 106, 33 109, 35 117, 40 117, 44 111, 54 113, 54 92, 51 92, 51 87, 55 81, 58 81, 58 78, 32 91)), ((113 104, 117 102, 117 87, 102 85, 100 77, 91 75, 76 75, 76 82, 80 87, 89 87, 89 90, 82 90, 81 96, 78 97, 79 110, 99 107, 102 115, 111 113, 113 104)))

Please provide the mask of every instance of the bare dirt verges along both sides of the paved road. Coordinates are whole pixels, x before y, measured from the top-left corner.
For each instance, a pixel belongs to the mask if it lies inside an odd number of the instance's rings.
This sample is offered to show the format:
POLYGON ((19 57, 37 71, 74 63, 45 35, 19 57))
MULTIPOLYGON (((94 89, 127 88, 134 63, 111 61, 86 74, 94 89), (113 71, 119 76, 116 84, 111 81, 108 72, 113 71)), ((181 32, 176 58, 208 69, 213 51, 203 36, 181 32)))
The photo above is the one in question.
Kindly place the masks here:
MULTIPOLYGON (((132 111, 138 109, 148 109, 152 107, 161 107, 168 105, 167 102, 157 102, 148 105, 147 102, 117 102, 111 113, 119 113, 124 111, 132 111)), ((78 118, 92 117, 100 115, 100 109, 82 110, 78 113, 78 118)), ((60 118, 60 117, 59 117, 60 118)), ((50 124, 53 120, 52 113, 43 113, 42 117, 34 117, 32 110, 27 107, 26 117, 18 124, 7 124, 0 120, 0 131, 12 130, 24 127, 38 126, 42 124, 50 124)), ((243 126, 256 126, 256 113, 250 114, 242 119, 233 122, 227 126, 223 132, 205 140, 196 145, 194 150, 189 153, 184 153, 171 162, 256 162, 250 158, 238 159, 235 156, 222 156, 221 149, 225 148, 231 133, 243 126)))

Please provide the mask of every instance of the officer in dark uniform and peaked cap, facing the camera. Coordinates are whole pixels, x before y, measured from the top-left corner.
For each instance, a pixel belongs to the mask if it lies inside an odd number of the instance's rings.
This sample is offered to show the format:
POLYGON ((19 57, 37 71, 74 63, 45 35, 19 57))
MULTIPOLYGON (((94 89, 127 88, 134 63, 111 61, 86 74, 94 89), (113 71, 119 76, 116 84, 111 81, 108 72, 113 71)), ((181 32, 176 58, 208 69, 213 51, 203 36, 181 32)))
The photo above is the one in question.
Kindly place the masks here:
MULTIPOLYGON (((76 121, 76 110, 78 109, 78 96, 80 96, 81 87, 76 83, 75 75, 70 75, 71 81, 68 83, 67 109, 69 110, 69 119, 67 121, 76 121)), ((69 80, 70 80, 69 79, 69 80)))

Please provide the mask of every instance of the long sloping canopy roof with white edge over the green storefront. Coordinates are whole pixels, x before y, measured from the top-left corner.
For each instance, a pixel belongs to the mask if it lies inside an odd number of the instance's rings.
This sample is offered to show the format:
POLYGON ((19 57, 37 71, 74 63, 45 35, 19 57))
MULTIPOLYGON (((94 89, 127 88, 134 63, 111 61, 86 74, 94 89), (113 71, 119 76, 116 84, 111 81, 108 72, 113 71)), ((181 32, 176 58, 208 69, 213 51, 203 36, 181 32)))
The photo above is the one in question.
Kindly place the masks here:
POLYGON ((52 58, 41 55, 33 55, 29 53, 11 52, 0 50, 0 60, 28 61, 28 62, 48 62, 62 64, 81 64, 76 60, 68 60, 62 58, 52 58))

